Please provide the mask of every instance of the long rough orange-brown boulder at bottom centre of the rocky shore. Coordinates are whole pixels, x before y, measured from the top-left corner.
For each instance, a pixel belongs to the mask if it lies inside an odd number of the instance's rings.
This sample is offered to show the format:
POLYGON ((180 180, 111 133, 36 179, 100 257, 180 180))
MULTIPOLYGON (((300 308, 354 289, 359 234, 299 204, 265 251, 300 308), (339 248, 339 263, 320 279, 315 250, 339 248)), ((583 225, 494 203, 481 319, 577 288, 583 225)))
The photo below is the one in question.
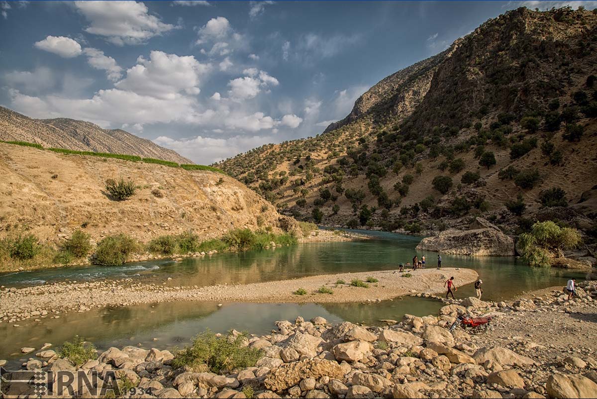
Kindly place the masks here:
POLYGON ((282 391, 291 386, 297 385, 306 378, 328 376, 330 379, 342 379, 343 368, 335 361, 312 358, 282 364, 271 370, 264 380, 267 389, 282 391))

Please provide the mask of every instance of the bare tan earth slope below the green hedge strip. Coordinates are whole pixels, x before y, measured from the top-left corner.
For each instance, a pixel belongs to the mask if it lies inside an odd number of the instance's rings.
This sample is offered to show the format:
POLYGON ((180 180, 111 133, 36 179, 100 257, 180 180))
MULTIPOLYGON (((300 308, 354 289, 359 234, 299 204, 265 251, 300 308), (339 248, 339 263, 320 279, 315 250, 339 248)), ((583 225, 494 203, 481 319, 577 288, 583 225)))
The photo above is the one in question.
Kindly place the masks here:
POLYGON ((81 228, 99 240, 124 232, 146 242, 194 231, 202 239, 278 224, 275 208, 231 177, 158 164, 62 155, 0 143, 0 238, 25 229, 60 242, 81 228), (106 194, 106 179, 137 185, 126 201, 106 194))

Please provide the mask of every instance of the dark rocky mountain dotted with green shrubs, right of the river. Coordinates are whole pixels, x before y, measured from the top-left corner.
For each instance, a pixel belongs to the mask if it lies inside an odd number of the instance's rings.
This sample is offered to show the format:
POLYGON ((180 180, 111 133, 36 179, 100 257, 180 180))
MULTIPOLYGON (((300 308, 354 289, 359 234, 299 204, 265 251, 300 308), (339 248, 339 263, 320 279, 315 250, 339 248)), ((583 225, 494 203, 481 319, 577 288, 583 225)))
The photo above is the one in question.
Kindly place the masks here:
POLYGON ((508 11, 384 78, 322 134, 216 164, 288 214, 430 232, 484 216, 595 235, 597 13, 508 11))

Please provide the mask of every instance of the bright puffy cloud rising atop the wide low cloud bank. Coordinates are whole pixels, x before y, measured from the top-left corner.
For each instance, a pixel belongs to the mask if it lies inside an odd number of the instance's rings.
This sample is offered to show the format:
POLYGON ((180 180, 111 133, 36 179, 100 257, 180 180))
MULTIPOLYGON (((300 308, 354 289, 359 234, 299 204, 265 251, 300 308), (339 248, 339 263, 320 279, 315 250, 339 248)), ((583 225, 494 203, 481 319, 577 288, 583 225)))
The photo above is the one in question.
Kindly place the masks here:
POLYGON ((141 96, 167 100, 176 99, 181 91, 199 94, 199 79, 210 69, 210 65, 199 63, 193 56, 177 56, 162 51, 152 51, 149 60, 141 56, 137 63, 115 86, 141 96))

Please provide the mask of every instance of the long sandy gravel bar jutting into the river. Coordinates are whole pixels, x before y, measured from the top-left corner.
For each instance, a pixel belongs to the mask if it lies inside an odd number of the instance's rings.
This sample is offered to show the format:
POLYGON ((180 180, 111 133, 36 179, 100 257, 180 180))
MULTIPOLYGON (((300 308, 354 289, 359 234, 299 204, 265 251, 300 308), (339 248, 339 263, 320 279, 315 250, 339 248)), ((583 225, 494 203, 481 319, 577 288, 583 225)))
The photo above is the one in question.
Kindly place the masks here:
POLYGON ((132 280, 97 281, 93 283, 56 283, 26 288, 6 288, 0 292, 0 319, 14 322, 65 311, 86 311, 102 306, 127 306, 176 300, 217 302, 363 302, 384 300, 408 293, 438 293, 444 281, 454 276, 456 286, 475 281, 477 273, 471 269, 423 269, 406 273, 377 271, 340 273, 268 281, 245 285, 208 287, 167 287, 158 284, 134 283, 132 280), (353 279, 374 277, 378 283, 368 288, 349 286, 353 279), (346 284, 336 284, 344 280, 346 284), (333 294, 321 294, 319 287, 328 287, 333 294), (305 295, 293 294, 299 288, 305 295))

